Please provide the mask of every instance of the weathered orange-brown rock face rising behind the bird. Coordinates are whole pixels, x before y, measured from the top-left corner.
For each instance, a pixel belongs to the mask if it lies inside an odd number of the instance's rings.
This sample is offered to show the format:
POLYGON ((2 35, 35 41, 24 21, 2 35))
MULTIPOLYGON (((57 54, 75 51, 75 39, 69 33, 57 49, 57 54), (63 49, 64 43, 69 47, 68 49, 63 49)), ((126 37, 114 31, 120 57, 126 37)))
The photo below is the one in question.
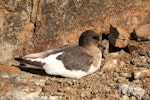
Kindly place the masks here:
POLYGON ((109 33, 110 24, 128 33, 150 23, 144 0, 1 0, 0 60, 75 44, 87 29, 109 33))

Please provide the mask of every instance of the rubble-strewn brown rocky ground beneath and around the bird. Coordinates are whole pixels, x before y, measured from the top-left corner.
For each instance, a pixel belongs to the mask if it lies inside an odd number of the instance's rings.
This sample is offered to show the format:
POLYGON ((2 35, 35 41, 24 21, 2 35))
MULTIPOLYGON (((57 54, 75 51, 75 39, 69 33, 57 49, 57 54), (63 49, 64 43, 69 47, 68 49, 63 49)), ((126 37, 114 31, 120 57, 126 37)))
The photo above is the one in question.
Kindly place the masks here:
POLYGON ((0 100, 149 100, 150 41, 107 49, 101 68, 81 79, 49 76, 0 63, 0 100), (115 51, 112 51, 112 50, 115 51))

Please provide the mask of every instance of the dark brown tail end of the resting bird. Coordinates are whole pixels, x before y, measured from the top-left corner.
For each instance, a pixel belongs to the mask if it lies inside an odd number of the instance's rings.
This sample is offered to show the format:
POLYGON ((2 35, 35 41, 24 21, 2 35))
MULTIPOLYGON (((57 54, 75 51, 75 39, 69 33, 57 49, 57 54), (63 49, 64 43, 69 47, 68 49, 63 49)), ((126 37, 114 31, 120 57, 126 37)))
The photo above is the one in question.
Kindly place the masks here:
POLYGON ((44 63, 31 61, 24 58, 15 58, 16 61, 20 62, 18 67, 20 68, 31 68, 31 69, 43 69, 44 63))

